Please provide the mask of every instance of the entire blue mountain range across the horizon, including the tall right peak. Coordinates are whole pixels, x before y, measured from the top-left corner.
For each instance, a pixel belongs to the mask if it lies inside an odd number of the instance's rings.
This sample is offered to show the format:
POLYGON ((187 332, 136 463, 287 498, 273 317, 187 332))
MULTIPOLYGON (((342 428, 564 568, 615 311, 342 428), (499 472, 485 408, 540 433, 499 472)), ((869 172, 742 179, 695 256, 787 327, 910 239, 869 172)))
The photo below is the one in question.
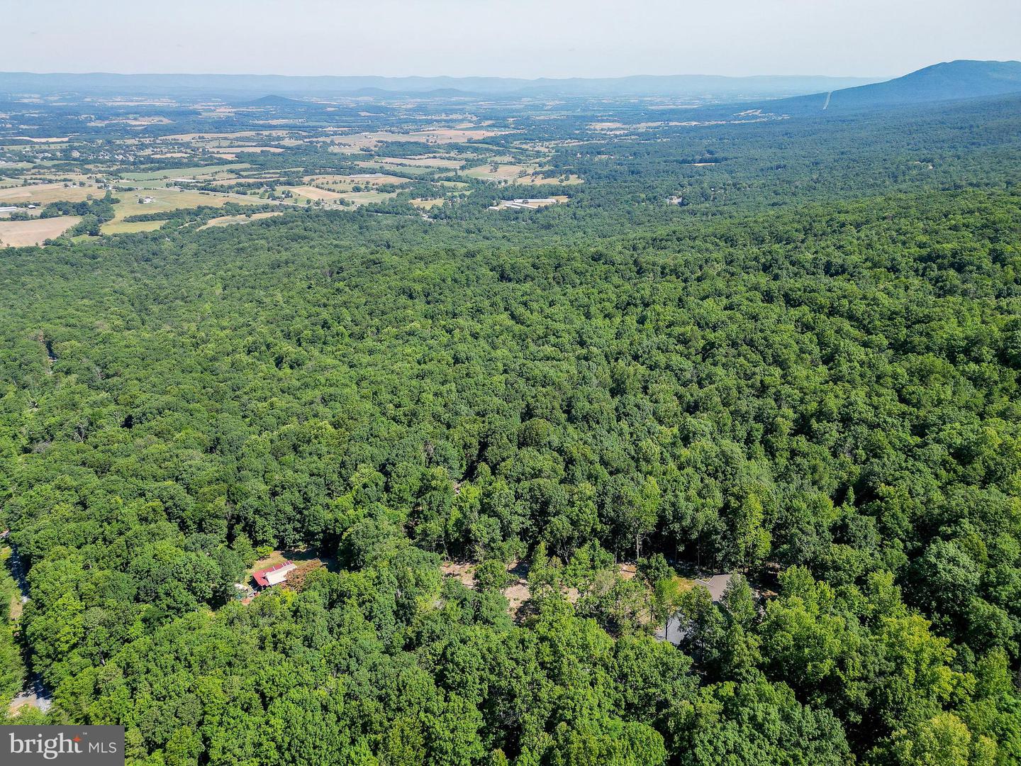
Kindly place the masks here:
POLYGON ((0 73, 0 94, 216 96, 241 105, 306 106, 310 96, 490 98, 689 98, 768 103, 804 113, 883 108, 1021 93, 1021 61, 957 60, 882 82, 863 78, 713 75, 623 78, 286 77, 281 75, 110 75, 0 73))

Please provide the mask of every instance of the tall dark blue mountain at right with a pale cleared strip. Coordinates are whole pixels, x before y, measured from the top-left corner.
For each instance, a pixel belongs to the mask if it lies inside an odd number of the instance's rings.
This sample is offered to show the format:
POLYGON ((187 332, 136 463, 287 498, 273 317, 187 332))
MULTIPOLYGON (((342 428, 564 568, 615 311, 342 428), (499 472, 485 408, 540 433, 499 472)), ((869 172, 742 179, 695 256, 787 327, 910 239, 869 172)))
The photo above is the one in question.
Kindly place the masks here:
POLYGON ((770 108, 840 112, 1010 93, 1021 93, 1021 61, 959 59, 926 66, 884 83, 784 99, 773 102, 770 108))

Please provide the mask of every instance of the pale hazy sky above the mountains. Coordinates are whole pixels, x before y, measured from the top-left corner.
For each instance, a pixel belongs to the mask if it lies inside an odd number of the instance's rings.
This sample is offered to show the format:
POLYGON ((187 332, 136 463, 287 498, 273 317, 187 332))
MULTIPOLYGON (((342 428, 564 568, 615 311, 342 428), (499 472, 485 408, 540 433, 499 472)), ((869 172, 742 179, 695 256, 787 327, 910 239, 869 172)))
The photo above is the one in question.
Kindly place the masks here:
POLYGON ((1021 58, 1021 0, 0 0, 0 70, 903 75, 1021 58))

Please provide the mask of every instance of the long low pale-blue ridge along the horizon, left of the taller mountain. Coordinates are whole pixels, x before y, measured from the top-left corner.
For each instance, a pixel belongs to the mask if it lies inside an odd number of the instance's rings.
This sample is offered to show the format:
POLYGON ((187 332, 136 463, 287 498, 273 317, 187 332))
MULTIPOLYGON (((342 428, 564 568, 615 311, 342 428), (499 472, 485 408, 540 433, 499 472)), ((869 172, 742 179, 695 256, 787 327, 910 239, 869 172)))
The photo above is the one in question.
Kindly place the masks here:
POLYGON ((638 75, 621 78, 288 77, 283 75, 113 75, 0 73, 0 93, 89 92, 130 95, 263 96, 448 95, 493 96, 699 96, 779 98, 836 90, 877 78, 817 76, 638 75))

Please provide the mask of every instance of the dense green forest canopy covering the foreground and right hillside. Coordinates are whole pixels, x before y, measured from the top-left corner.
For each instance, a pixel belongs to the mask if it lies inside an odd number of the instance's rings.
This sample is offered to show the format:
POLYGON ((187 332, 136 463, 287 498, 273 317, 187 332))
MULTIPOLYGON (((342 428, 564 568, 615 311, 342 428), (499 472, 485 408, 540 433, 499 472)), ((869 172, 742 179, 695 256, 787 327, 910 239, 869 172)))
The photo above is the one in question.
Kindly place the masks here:
POLYGON ((54 692, 19 720, 151 766, 1021 762, 1005 103, 910 147, 724 127, 687 206, 653 169, 692 148, 610 140, 572 204, 488 223, 5 250, 0 527, 54 692), (237 601, 275 548, 330 566, 237 601))

